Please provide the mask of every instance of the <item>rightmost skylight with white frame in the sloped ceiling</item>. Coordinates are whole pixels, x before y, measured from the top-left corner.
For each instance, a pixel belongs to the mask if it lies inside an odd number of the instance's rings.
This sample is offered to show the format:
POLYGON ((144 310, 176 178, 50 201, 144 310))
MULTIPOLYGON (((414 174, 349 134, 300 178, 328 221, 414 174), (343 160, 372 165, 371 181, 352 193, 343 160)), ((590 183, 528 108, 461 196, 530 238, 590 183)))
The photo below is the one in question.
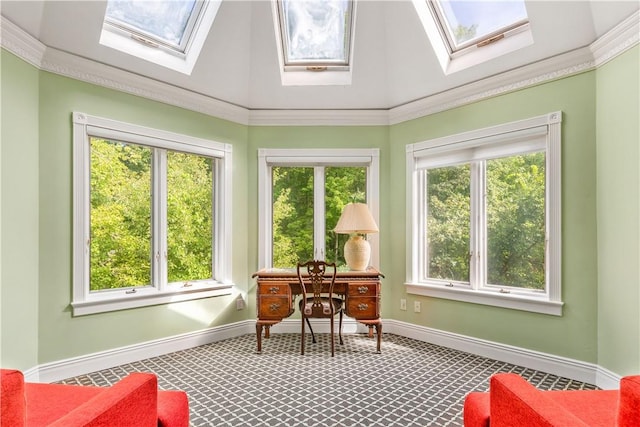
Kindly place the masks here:
POLYGON ((533 43, 522 0, 413 0, 445 74, 533 43))

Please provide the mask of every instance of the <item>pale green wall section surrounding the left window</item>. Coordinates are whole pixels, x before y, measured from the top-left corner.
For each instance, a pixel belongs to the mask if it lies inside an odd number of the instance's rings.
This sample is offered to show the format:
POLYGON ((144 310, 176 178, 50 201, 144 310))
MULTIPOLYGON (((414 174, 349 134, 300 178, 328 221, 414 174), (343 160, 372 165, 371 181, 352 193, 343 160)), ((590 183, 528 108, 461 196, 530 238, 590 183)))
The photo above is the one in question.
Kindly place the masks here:
MULTIPOLYGON (((72 112, 233 145, 233 277, 246 292, 246 126, 103 87, 40 73, 38 362, 47 363, 250 317, 230 295, 72 317, 72 112)), ((4 117, 3 117, 4 121, 4 117)), ((4 332, 4 331, 3 331, 4 332)))

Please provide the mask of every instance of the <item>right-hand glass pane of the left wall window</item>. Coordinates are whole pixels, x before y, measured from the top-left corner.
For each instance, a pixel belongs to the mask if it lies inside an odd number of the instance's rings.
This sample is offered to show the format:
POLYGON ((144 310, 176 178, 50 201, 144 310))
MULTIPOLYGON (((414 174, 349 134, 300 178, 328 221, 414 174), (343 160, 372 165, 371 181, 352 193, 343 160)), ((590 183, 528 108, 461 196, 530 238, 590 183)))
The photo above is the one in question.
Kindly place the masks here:
POLYGON ((167 275, 169 282, 211 279, 213 160, 167 153, 167 275))

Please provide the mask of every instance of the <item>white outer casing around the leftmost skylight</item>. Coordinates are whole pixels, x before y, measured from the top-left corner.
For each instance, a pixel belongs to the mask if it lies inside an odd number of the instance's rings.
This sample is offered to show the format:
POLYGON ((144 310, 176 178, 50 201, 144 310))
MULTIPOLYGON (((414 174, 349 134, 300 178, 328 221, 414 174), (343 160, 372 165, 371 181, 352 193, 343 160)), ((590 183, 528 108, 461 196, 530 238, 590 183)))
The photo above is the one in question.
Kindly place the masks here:
POLYGON ((188 43, 184 46, 184 52, 156 42, 150 37, 144 37, 127 29, 111 25, 107 20, 102 25, 100 44, 171 70, 191 75, 204 42, 209 36, 221 3, 222 0, 203 2, 199 16, 190 29, 191 34, 185 32, 184 38, 188 40, 188 43))

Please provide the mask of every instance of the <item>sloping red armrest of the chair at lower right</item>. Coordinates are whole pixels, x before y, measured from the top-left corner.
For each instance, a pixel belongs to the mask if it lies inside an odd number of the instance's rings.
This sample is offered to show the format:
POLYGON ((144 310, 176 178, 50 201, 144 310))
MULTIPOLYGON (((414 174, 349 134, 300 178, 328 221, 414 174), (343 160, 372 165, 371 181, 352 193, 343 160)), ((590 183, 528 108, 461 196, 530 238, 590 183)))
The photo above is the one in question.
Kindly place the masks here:
POLYGON ((491 427, 588 427, 516 374, 496 374, 490 386, 491 427))

